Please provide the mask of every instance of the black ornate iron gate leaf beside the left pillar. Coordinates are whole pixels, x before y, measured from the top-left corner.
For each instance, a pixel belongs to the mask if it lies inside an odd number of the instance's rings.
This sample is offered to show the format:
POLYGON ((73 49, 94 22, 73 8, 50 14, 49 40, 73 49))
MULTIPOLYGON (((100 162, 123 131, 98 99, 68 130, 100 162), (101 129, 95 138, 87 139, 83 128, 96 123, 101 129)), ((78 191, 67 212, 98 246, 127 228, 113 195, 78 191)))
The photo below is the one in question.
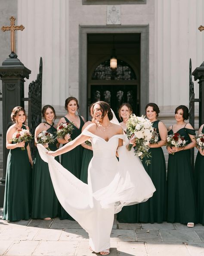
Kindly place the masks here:
MULTIPOLYGON (((32 134, 34 134, 37 125, 41 123, 42 77, 43 60, 42 57, 40 57, 39 74, 37 74, 37 79, 29 84, 28 89, 28 126, 32 134)), ((34 140, 30 145, 32 156, 34 156, 34 152, 36 150, 36 147, 34 146, 34 140)))

